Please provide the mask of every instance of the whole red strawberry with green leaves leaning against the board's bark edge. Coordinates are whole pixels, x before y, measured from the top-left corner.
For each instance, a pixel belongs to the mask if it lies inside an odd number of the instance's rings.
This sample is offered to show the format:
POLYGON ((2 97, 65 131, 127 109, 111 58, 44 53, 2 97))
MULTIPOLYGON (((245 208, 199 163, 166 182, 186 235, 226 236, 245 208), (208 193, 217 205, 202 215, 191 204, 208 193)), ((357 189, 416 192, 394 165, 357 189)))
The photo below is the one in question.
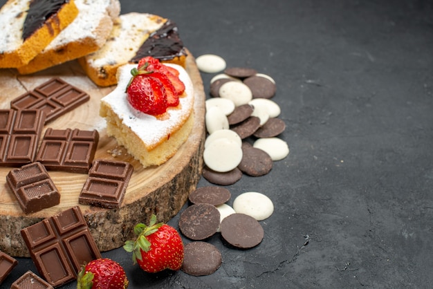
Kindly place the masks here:
POLYGON ((181 269, 183 242, 174 227, 156 223, 156 216, 152 215, 149 226, 139 223, 134 233, 138 235, 136 241, 126 241, 123 246, 127 252, 133 252, 134 264, 149 273, 181 269))

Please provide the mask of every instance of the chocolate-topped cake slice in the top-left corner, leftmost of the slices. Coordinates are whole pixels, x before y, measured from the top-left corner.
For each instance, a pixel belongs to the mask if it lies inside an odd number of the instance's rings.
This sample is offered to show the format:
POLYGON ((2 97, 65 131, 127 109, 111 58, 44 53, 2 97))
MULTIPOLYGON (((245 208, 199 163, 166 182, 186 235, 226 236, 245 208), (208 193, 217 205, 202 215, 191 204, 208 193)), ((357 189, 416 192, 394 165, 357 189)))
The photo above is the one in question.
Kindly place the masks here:
POLYGON ((30 62, 77 17, 73 0, 9 0, 0 10, 0 68, 30 62))

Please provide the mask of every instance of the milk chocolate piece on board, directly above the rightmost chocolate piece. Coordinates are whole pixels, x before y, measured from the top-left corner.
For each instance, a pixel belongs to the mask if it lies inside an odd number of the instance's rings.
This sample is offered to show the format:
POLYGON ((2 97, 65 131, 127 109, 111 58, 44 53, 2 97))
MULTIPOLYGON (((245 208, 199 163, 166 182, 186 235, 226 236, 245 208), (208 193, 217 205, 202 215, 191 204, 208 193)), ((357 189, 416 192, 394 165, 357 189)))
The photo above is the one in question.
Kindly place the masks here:
POLYGON ((98 147, 96 130, 51 129, 45 131, 36 161, 48 170, 87 174, 98 147))

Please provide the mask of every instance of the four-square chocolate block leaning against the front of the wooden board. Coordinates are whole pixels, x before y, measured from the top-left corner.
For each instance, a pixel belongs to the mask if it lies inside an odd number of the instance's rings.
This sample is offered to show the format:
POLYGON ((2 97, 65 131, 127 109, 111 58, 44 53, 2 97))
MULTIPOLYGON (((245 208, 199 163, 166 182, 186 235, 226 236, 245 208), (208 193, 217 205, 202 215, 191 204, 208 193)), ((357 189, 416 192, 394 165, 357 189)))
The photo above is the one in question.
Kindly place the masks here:
POLYGON ((101 258, 80 207, 21 230, 39 274, 57 287, 77 278, 81 265, 101 258))

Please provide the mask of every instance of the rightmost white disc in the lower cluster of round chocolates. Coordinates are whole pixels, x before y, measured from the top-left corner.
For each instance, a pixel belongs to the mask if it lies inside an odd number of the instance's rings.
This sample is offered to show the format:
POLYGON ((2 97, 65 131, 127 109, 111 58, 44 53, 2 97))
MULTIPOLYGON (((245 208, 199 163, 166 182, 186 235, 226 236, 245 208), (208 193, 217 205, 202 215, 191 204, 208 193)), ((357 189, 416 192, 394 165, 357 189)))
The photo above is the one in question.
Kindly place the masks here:
POLYGON ((246 192, 233 201, 233 209, 240 214, 252 216, 257 221, 269 218, 274 212, 274 205, 268 196, 257 192, 246 192))

